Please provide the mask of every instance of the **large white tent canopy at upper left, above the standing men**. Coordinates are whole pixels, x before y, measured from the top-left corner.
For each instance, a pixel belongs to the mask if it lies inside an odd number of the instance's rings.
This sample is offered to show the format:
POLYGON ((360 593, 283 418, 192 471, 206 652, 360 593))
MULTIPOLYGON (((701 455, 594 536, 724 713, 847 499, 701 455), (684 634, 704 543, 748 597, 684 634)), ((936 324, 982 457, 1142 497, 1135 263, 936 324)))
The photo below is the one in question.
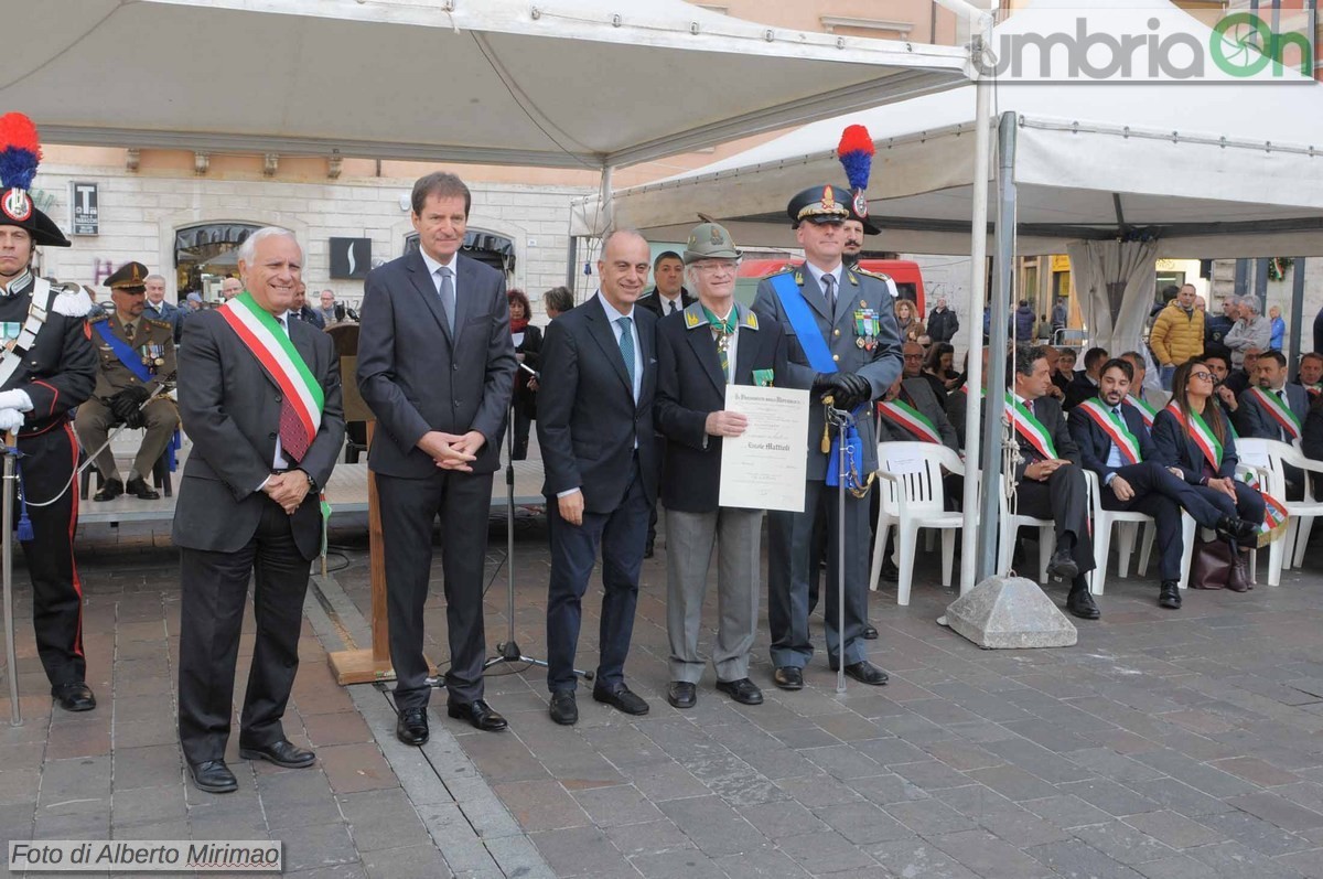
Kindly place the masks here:
POLYGON ((623 165, 968 79, 967 52, 680 0, 5 4, 0 105, 52 142, 623 165))

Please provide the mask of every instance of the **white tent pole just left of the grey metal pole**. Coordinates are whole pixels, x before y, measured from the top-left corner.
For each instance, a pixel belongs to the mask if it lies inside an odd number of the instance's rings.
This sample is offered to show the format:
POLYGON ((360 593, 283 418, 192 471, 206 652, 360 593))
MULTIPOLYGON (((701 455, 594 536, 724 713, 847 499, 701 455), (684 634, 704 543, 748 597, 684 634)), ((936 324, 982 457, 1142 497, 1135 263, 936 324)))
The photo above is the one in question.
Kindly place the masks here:
MULTIPOLYGON (((971 54, 990 49, 992 38, 991 19, 983 32, 971 41, 971 54)), ((964 402, 964 459, 979 459, 979 389, 983 387, 983 336, 982 315, 987 302, 987 249, 988 249, 988 177, 992 164, 992 79, 982 75, 975 86, 976 111, 974 115, 974 209, 970 236, 970 299, 967 307, 968 367, 964 387, 968 391, 964 402)), ((979 506, 979 481, 971 473, 964 477, 964 496, 960 508, 964 510, 966 528, 960 530, 960 594, 978 582, 975 575, 975 555, 979 528, 974 527, 972 512, 979 506)))

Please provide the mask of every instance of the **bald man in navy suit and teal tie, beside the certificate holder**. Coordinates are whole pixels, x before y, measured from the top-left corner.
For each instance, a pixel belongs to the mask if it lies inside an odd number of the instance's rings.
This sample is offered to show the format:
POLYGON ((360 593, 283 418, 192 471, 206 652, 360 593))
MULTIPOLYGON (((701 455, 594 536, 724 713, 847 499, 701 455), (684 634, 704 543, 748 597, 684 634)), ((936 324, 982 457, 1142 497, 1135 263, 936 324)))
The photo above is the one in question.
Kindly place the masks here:
POLYGON ((636 232, 613 232, 602 242, 597 271, 598 295, 546 328, 537 393, 552 532, 546 686, 552 720, 562 725, 578 721, 574 651, 599 547, 601 659, 593 698, 631 715, 648 711, 624 686, 648 508, 656 498, 656 316, 634 307, 648 278, 648 242, 636 232))

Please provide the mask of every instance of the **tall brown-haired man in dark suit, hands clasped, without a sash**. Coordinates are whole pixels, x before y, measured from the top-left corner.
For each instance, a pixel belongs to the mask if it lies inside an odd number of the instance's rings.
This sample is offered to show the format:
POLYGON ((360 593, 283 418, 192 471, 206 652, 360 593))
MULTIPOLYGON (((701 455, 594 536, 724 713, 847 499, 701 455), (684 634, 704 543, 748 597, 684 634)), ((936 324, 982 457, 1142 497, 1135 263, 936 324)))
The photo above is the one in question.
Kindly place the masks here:
POLYGON ((441 515, 450 666, 447 712, 478 729, 505 728, 483 700, 483 563, 492 473, 515 387, 505 279, 459 255, 468 187, 430 173, 413 189, 417 253, 364 283, 359 389, 377 416, 368 465, 381 498, 396 736, 427 741, 422 613, 431 531, 441 515))

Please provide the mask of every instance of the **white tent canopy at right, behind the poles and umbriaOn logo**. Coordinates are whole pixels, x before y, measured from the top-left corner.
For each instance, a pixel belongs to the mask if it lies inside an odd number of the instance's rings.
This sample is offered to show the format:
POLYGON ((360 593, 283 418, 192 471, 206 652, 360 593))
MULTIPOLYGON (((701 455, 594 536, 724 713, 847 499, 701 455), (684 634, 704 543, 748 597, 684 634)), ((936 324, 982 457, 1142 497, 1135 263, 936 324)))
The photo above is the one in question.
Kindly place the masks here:
MULTIPOLYGON (((1036 12, 1016 13, 996 33, 1045 32, 1036 12)), ((1207 38, 1185 13, 1167 15, 1207 38)), ((1068 241, 1130 234, 1158 236, 1162 255, 1323 254, 1323 87, 1295 79, 1003 83, 996 113, 1017 120, 1019 252, 1064 253, 1068 241)), ((877 147, 868 195, 884 233, 869 246, 968 253, 974 110, 975 89, 966 85, 806 124, 615 193, 614 222, 683 241, 703 212, 728 221, 741 246, 792 248, 786 200, 843 181, 833 147, 857 123, 877 147)), ((583 205, 583 226, 594 212, 595 203, 583 205)))

